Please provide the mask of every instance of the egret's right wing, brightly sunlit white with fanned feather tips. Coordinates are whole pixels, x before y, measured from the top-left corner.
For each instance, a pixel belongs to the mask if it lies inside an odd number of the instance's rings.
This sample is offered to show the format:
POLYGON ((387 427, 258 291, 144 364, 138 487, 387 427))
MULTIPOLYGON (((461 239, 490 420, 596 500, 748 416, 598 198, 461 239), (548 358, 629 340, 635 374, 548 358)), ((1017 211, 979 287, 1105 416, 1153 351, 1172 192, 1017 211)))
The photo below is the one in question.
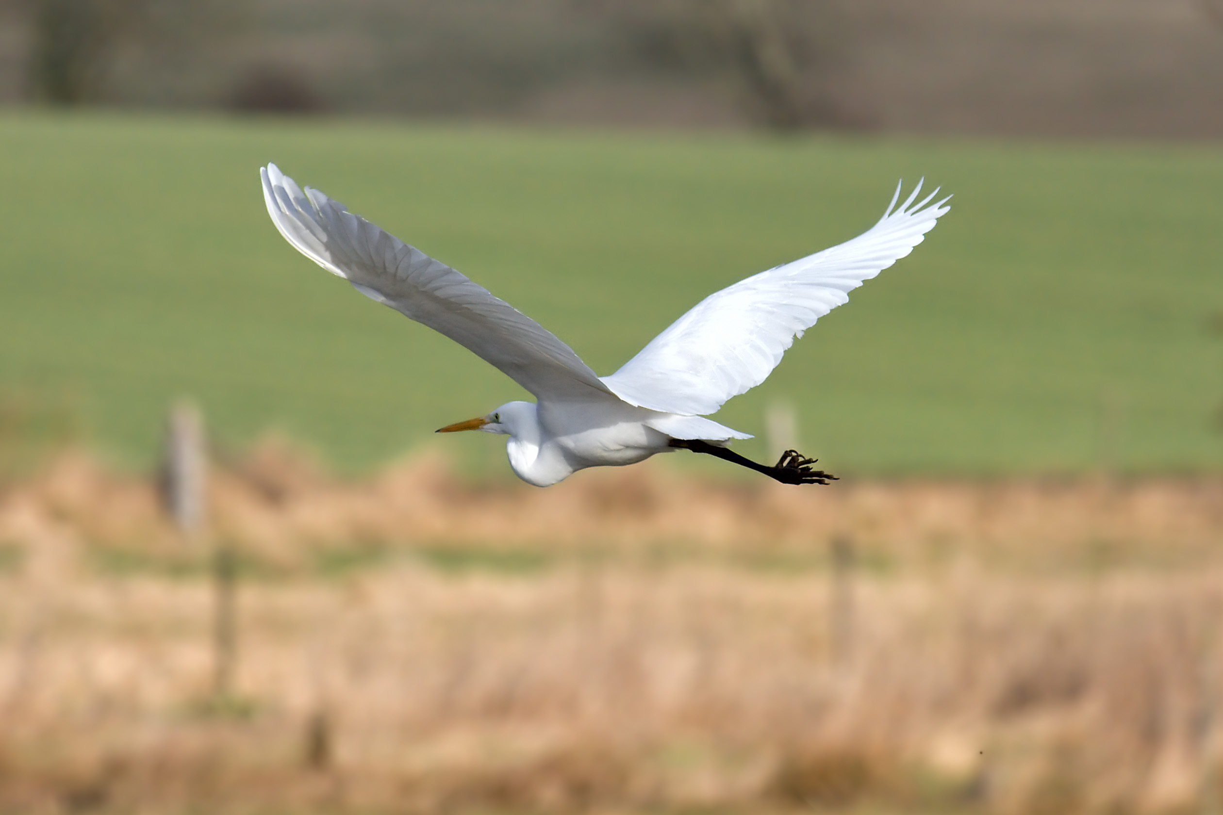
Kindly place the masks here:
MULTIPOLYGON (((851 241, 762 271, 709 294, 603 381, 626 402, 653 411, 713 413, 773 371, 794 337, 912 252, 947 213, 936 189, 914 204, 921 183, 879 222, 851 241)), ((948 197, 949 198, 949 197, 948 197)))

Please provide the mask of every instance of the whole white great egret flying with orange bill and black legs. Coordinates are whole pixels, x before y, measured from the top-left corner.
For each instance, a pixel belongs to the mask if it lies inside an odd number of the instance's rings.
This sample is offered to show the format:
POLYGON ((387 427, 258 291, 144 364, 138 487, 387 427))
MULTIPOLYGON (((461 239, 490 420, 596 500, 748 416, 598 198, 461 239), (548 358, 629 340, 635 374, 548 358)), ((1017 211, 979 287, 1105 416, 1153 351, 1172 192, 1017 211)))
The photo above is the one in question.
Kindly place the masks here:
POLYGON ((298 252, 371 299, 466 346, 533 393, 438 430, 508 435, 510 467, 523 481, 555 484, 587 467, 635 464, 676 448, 708 453, 784 484, 834 475, 788 450, 773 467, 731 452, 750 435, 703 414, 764 381, 805 329, 921 243, 948 211, 938 193, 898 208, 900 185, 879 221, 851 241, 741 280, 701 301, 610 376, 597 376, 542 325, 450 266, 350 213, 276 165, 259 169, 268 213, 298 252))

